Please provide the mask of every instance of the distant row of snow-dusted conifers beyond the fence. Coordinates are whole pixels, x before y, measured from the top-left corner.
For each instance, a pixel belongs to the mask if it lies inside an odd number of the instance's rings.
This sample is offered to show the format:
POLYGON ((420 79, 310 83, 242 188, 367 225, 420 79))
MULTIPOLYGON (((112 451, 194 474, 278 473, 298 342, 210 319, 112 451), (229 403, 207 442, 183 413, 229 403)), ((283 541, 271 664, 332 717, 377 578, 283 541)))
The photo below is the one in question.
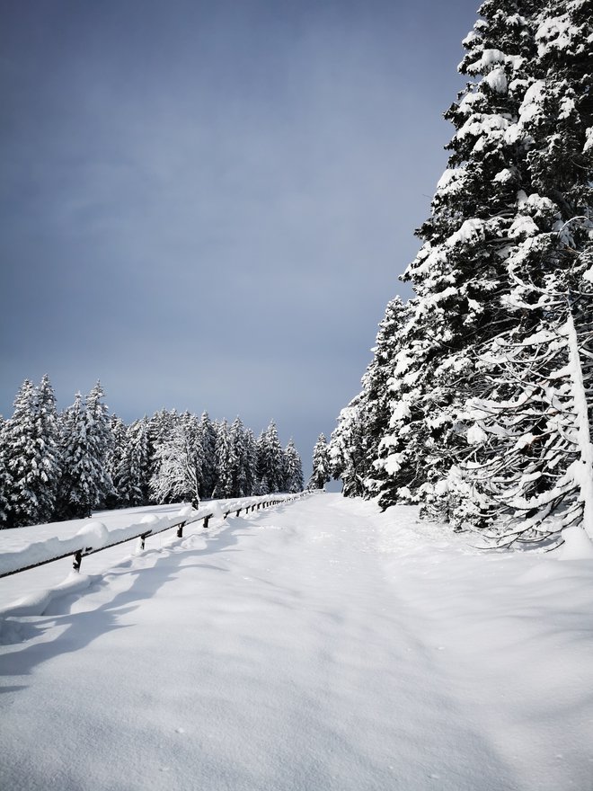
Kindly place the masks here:
POLYGON ((126 425, 98 382, 58 413, 47 376, 26 380, 13 416, 0 418, 0 527, 87 517, 102 508, 300 492, 293 440, 273 421, 256 439, 233 423, 161 410, 126 425))

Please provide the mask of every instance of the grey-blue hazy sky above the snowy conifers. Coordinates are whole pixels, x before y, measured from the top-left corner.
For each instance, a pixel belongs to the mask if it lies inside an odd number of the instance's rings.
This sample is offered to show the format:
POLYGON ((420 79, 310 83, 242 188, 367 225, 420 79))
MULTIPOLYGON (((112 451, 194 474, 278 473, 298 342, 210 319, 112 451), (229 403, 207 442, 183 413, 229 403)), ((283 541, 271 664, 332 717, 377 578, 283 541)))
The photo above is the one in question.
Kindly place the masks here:
POLYGON ((306 464, 410 296, 477 6, 0 0, 0 413, 101 379, 306 464))

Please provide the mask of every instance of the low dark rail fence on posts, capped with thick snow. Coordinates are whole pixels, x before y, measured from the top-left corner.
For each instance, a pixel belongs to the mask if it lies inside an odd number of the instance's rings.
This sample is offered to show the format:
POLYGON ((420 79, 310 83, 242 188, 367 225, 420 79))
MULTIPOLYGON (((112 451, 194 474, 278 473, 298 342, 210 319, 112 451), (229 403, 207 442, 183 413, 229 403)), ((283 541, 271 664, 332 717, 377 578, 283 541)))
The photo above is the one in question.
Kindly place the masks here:
POLYGON ((239 516, 242 511, 259 511, 279 505, 281 502, 291 502, 305 496, 304 492, 297 494, 265 494, 261 497, 241 497, 232 500, 214 500, 194 509, 185 506, 174 516, 156 516, 146 514, 139 522, 124 528, 108 530, 100 520, 89 520, 71 538, 46 538, 36 541, 27 547, 12 552, 3 552, 0 555, 0 579, 11 574, 28 571, 31 568, 62 560, 69 555, 73 557, 75 572, 80 571, 83 557, 102 552, 103 549, 116 547, 135 538, 140 539, 140 548, 144 549, 148 536, 156 536, 164 530, 177 529, 177 537, 183 536, 183 529, 195 522, 203 521, 203 528, 208 529, 208 522, 213 517, 226 519, 231 513, 239 516))

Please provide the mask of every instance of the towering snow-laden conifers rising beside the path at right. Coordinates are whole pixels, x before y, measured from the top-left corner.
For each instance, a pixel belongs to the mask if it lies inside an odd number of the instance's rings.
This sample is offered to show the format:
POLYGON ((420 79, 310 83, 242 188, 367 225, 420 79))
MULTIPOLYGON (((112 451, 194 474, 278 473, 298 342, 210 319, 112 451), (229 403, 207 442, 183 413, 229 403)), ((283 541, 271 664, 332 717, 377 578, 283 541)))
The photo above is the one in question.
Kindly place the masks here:
POLYGON ((487 0, 423 245, 332 434, 347 495, 593 538, 593 3, 487 0))

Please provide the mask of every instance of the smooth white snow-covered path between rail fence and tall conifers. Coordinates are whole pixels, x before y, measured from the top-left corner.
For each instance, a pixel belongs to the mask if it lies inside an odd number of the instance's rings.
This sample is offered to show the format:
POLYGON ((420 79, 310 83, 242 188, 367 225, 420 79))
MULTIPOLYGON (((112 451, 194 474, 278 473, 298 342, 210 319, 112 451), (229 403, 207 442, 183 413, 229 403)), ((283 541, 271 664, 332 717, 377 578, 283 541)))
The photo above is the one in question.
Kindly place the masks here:
POLYGON ((217 525, 4 623, 3 788, 593 789, 592 561, 335 494, 217 525))

